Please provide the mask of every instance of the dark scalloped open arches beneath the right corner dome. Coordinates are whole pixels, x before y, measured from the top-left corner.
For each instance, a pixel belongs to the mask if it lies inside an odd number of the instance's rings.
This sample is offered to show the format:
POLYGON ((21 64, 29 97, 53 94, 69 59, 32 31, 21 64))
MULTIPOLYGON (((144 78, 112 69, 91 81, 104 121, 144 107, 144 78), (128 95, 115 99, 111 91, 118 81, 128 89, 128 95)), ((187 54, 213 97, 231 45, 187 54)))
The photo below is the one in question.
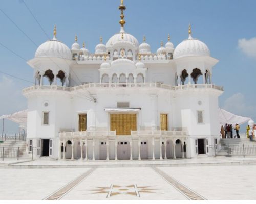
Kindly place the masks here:
POLYGON ((176 74, 176 86, 191 84, 191 80, 194 84, 211 84, 211 74, 209 70, 205 70, 204 73, 198 68, 192 70, 189 74, 186 69, 183 69, 180 75, 176 74))

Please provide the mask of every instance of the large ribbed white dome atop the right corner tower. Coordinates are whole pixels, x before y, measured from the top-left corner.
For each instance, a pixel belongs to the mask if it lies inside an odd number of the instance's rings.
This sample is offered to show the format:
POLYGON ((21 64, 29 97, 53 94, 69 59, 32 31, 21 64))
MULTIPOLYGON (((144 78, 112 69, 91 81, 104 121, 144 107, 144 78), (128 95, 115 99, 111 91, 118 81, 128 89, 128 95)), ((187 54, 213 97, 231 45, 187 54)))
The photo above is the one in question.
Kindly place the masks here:
POLYGON ((174 59, 187 56, 210 56, 210 50, 205 43, 189 34, 189 38, 178 44, 174 50, 174 59))

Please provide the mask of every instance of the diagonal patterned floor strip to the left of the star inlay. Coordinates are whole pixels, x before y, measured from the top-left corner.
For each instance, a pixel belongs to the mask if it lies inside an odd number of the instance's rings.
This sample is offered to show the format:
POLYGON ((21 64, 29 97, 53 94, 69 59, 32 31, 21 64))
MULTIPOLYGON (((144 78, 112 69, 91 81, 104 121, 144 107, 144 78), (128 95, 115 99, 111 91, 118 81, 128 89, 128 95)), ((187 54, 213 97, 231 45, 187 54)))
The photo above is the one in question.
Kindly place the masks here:
POLYGON ((76 185, 78 185, 82 180, 86 179, 88 175, 90 175, 93 171, 95 171, 96 168, 91 168, 87 170, 85 173, 82 175, 78 176, 75 180, 72 182, 68 183, 67 185, 63 186, 59 190, 57 190, 55 193, 52 195, 46 197, 44 200, 59 200, 63 195, 68 193, 71 189, 73 189, 76 185))

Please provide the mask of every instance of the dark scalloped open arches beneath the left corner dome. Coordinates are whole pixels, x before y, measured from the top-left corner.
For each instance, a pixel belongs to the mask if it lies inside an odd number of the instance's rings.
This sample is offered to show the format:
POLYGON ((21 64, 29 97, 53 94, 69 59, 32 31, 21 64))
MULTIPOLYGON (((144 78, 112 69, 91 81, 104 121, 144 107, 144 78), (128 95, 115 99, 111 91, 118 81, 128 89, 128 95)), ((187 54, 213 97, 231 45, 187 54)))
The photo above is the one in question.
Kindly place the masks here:
POLYGON ((59 70, 54 73, 51 69, 44 71, 37 71, 35 74, 35 85, 58 85, 58 86, 68 86, 69 77, 59 70))

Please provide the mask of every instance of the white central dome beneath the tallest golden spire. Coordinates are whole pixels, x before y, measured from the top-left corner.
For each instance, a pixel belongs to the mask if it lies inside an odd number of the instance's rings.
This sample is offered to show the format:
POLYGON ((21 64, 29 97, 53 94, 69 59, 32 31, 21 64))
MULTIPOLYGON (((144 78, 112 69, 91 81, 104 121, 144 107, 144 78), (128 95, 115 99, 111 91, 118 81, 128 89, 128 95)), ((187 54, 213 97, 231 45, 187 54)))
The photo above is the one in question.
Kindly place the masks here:
POLYGON ((123 27, 121 27, 121 30, 119 33, 116 33, 115 35, 113 35, 108 42, 106 43, 106 48, 112 48, 113 46, 117 45, 117 44, 123 44, 123 45, 132 45, 132 47, 138 49, 139 47, 139 42, 138 40, 131 34, 126 33, 123 29, 123 27))

